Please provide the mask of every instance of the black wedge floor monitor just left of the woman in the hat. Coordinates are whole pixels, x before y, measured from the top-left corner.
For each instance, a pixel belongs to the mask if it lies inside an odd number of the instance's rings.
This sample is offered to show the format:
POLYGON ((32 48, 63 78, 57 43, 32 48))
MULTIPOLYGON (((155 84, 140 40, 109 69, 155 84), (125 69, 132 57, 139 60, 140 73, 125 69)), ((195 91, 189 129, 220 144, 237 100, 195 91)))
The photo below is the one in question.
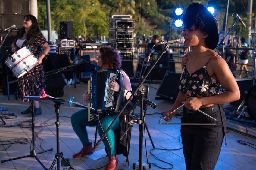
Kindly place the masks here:
POLYGON ((181 73, 167 71, 164 79, 159 86, 156 95, 163 97, 167 100, 175 101, 179 93, 179 82, 181 73))

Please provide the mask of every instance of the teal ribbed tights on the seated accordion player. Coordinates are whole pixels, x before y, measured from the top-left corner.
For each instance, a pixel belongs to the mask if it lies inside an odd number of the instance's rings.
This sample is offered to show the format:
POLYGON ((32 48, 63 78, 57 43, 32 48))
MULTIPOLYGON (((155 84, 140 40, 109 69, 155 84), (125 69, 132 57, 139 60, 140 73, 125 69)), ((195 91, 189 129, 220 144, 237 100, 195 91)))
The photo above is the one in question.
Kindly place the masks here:
MULTIPOLYGON (((102 126, 104 132, 108 129, 109 125, 113 122, 115 117, 116 117, 115 115, 101 117, 100 122, 101 122, 101 126, 102 126)), ((88 122, 87 108, 79 110, 78 112, 75 112, 71 116, 71 124, 72 124, 74 131, 76 132, 76 135, 81 140, 83 146, 90 144, 86 126, 97 126, 99 135, 100 136, 103 135, 103 131, 102 131, 101 126, 98 121, 95 121, 92 123, 88 122)), ((111 129, 108 131, 108 133, 106 135, 110 144, 108 143, 106 138, 103 139, 103 143, 108 151, 108 155, 111 155, 111 151, 112 151, 112 155, 116 155, 114 131, 117 130, 118 127, 119 127, 119 118, 117 119, 117 121, 114 123, 114 125, 111 127, 111 129)))

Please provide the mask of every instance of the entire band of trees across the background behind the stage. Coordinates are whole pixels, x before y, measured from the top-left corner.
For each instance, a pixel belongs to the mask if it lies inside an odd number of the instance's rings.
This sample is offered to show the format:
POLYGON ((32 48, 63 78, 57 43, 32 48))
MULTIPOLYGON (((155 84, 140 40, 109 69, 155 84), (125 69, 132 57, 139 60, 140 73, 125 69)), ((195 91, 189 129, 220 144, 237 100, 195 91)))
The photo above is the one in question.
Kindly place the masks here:
MULTIPOLYGON (((60 21, 73 21, 74 35, 101 34, 108 37, 109 17, 114 14, 129 14, 135 19, 135 33, 180 35, 182 28, 176 28, 173 22, 178 18, 174 10, 197 2, 205 6, 214 6, 214 16, 219 22, 219 30, 223 30, 227 0, 51 0, 52 29, 59 30, 60 21)), ((232 13, 238 13, 247 23, 248 1, 229 0, 228 26, 236 21, 232 13)), ((256 0, 253 0, 253 9, 256 0)), ((45 0, 38 0, 38 20, 42 29, 47 29, 45 0)), ((253 13, 254 16, 254 13, 253 13)), ((254 22, 254 21, 253 21, 254 22)), ((254 29, 254 28, 252 28, 254 29)), ((231 34, 241 34, 246 37, 246 29, 240 23, 234 27, 231 34)))

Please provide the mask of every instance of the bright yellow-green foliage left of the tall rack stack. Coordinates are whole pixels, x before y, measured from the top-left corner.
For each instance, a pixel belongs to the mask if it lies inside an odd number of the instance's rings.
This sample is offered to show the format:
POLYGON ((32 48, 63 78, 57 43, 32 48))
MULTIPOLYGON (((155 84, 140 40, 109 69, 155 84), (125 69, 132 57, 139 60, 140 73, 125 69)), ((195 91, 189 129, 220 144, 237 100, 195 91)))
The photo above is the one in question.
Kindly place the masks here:
MULTIPOLYGON (((47 29, 45 1, 39 1, 39 19, 42 29, 47 29)), ((98 0, 52 0, 53 29, 59 31, 61 21, 73 21, 74 35, 108 35, 108 16, 98 0)))

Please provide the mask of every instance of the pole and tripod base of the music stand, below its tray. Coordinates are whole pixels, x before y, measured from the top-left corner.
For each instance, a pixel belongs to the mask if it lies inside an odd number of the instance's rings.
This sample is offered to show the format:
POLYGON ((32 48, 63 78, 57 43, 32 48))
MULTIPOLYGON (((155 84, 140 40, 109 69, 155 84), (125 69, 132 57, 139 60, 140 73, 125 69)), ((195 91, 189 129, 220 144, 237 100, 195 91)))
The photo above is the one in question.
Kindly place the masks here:
POLYGON ((49 170, 52 170, 53 166, 55 165, 55 162, 57 161, 57 167, 56 169, 57 170, 60 170, 60 158, 62 158, 62 160, 64 160, 68 166, 69 166, 69 169, 73 169, 73 166, 70 165, 69 162, 67 162, 67 160, 65 160, 65 158, 63 157, 63 153, 61 152, 60 153, 60 121, 59 121, 59 113, 60 113, 60 105, 63 104, 61 102, 57 102, 57 101, 54 101, 54 108, 55 108, 55 113, 56 113, 56 138, 57 138, 57 153, 55 154, 54 156, 54 160, 52 162, 52 165, 50 166, 49 170))

